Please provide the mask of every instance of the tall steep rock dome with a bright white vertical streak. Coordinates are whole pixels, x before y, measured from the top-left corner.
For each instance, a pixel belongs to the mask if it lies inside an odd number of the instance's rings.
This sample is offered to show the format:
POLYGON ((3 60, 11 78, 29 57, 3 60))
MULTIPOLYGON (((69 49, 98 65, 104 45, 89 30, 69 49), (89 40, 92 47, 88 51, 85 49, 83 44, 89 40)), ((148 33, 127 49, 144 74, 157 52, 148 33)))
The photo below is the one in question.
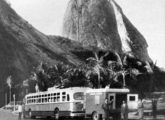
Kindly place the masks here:
POLYGON ((70 0, 63 26, 65 37, 85 46, 152 62, 146 40, 113 0, 70 0))

